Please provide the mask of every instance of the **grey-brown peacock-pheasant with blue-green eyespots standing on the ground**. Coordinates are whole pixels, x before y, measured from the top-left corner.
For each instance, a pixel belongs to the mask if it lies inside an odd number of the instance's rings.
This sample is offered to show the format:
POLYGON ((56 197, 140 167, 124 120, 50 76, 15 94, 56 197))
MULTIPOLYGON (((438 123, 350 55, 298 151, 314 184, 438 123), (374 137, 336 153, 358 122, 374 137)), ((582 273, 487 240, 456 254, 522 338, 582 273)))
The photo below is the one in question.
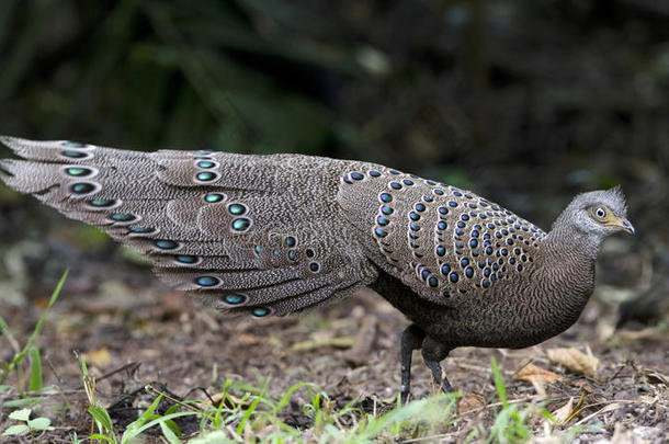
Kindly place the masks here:
POLYGON ((303 155, 139 152, 0 137, 0 178, 148 255, 229 315, 301 312, 371 287, 410 325, 433 383, 461 346, 521 349, 579 318, 604 238, 635 234, 620 187, 576 195, 549 231, 470 191, 381 164, 303 155))

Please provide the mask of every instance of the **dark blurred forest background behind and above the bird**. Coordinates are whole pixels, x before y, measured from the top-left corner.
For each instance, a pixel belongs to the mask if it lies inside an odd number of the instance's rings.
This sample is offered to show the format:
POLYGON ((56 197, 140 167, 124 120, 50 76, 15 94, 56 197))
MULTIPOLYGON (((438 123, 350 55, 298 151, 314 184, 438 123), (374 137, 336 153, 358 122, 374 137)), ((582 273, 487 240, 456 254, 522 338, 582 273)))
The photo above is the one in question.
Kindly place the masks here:
MULTIPOLYGON (((364 159, 546 229, 621 184, 626 251, 667 255, 666 2, 3 0, 0 103, 1 134, 364 159)), ((4 187, 0 209, 4 244, 53 235, 36 257, 113 249, 4 187)))

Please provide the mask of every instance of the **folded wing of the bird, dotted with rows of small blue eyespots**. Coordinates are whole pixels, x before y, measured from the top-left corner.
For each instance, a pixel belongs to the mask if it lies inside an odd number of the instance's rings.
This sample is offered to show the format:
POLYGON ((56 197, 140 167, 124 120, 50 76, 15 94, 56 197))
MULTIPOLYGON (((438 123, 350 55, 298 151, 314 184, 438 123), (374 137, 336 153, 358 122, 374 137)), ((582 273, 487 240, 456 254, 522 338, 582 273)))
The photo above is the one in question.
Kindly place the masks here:
POLYGON ((474 193, 379 166, 347 172, 338 201, 373 262, 445 306, 518 278, 545 237, 474 193))

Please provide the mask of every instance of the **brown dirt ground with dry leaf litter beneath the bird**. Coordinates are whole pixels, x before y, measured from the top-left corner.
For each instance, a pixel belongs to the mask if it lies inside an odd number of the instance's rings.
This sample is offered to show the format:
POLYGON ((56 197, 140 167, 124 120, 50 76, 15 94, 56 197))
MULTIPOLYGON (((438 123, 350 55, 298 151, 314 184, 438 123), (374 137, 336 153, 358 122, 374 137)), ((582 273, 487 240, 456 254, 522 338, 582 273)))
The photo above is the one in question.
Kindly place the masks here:
MULTIPOLYGON (((69 236, 56 235, 56 238, 69 236)), ((619 258, 616 252, 627 248, 630 240, 611 242, 600 261, 600 281, 615 283, 615 276, 621 278, 616 267, 634 269, 638 264, 628 259, 621 265, 621 261, 611 259, 619 258)), ((34 257, 45 261, 38 264, 31 263, 31 254, 26 259, 30 246, 15 246, 14 250, 23 253, 5 251, 0 306, 14 335, 24 341, 56 285, 56 271, 64 269, 65 263, 73 265, 37 342, 46 363, 45 384, 58 383, 63 389, 50 402, 63 406, 65 397, 70 406, 69 410, 57 409, 47 414, 57 426, 48 435, 53 442, 70 442, 73 431, 86 436, 90 428, 75 351, 86 354, 91 373, 98 377, 100 400, 110 408, 118 430, 132 420, 136 408, 146 407, 155 398, 154 394, 143 391, 149 383, 175 396, 204 398, 202 391, 189 390, 204 387, 213 395, 225 378, 260 386, 271 377, 269 391, 277 396, 297 383, 309 382, 322 387, 340 407, 358 398, 362 408, 383 411, 395 402, 399 387, 399 332, 407 321, 371 291, 298 317, 228 319, 166 288, 148 269, 129 264, 118 254, 84 255, 75 247, 59 250, 63 244, 47 246, 53 254, 48 260, 39 254, 43 247, 33 244, 34 257), (37 265, 43 271, 41 280, 25 284, 30 282, 30 270, 37 265), (27 288, 26 297, 21 298, 20 288, 27 288)), ((632 321, 613 331, 620 300, 635 293, 634 288, 600 285, 577 325, 531 349, 454 351, 445 361, 445 372, 465 398, 458 406, 458 420, 441 435, 443 442, 463 441, 472 430, 486 430, 494 422, 499 399, 491 378, 490 356, 499 363, 511 400, 548 399, 544 407, 554 412, 570 399, 576 403, 583 397, 580 415, 557 428, 559 431, 574 425, 597 426, 582 429, 575 442, 610 439, 616 426, 619 437, 666 442, 669 437, 666 325, 656 321, 642 326, 632 321), (599 360, 596 375, 569 372, 548 360, 546 351, 557 348, 576 348, 585 353, 591 350, 599 360), (559 379, 537 385, 517 380, 514 375, 526 363, 553 372, 559 379), (622 431, 627 434, 620 435, 622 431)), ((8 361, 11 355, 4 343, 0 357, 8 361)), ((413 398, 430 395, 432 384, 418 353, 412 373, 413 398)), ((21 385, 15 375, 8 383, 21 385)), ((9 394, 0 403, 15 395, 9 394)), ((307 399, 306 392, 295 395, 283 413, 286 422, 309 428, 309 420, 302 412, 307 399)), ((7 417, 0 420, 0 429, 5 426, 7 417)), ((197 431, 196 421, 183 426, 184 434, 197 431)))

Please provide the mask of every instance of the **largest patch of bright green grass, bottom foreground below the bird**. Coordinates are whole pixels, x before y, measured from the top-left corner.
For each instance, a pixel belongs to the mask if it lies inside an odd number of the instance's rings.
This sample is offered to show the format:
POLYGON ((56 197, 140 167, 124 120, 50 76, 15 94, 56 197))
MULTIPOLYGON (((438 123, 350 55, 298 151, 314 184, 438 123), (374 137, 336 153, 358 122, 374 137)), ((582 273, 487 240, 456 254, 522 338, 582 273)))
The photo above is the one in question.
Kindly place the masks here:
MULTIPOLYGON (((262 387, 227 379, 218 406, 194 399, 177 401, 166 413, 159 414, 157 408, 165 396, 160 394, 137 420, 120 433, 115 430, 109 412, 95 399, 94 379, 89 375, 83 360, 81 368, 89 396, 88 411, 95 429, 95 433, 88 436, 88 440, 99 440, 110 444, 131 443, 143 432, 156 426, 168 442, 179 443, 182 434, 174 419, 186 415, 200 418, 200 436, 190 441, 195 444, 234 443, 239 440, 245 442, 261 440, 268 443, 306 442, 304 430, 281 419, 283 410, 290 406, 292 398, 299 390, 306 391, 309 399, 303 406, 303 412, 313 424, 308 431, 309 442, 397 441, 409 435, 429 436, 430 433, 435 433, 452 423, 457 400, 456 395, 440 395, 412 401, 402 407, 397 406, 375 417, 355 407, 355 401, 342 408, 334 408, 334 402, 328 395, 313 384, 296 384, 281 397, 275 397, 268 394, 269 378, 264 380, 262 387), (184 408, 188 411, 178 411, 184 408), (345 426, 344 423, 352 425, 345 426)), ((82 442, 77 437, 72 441, 82 442)))

